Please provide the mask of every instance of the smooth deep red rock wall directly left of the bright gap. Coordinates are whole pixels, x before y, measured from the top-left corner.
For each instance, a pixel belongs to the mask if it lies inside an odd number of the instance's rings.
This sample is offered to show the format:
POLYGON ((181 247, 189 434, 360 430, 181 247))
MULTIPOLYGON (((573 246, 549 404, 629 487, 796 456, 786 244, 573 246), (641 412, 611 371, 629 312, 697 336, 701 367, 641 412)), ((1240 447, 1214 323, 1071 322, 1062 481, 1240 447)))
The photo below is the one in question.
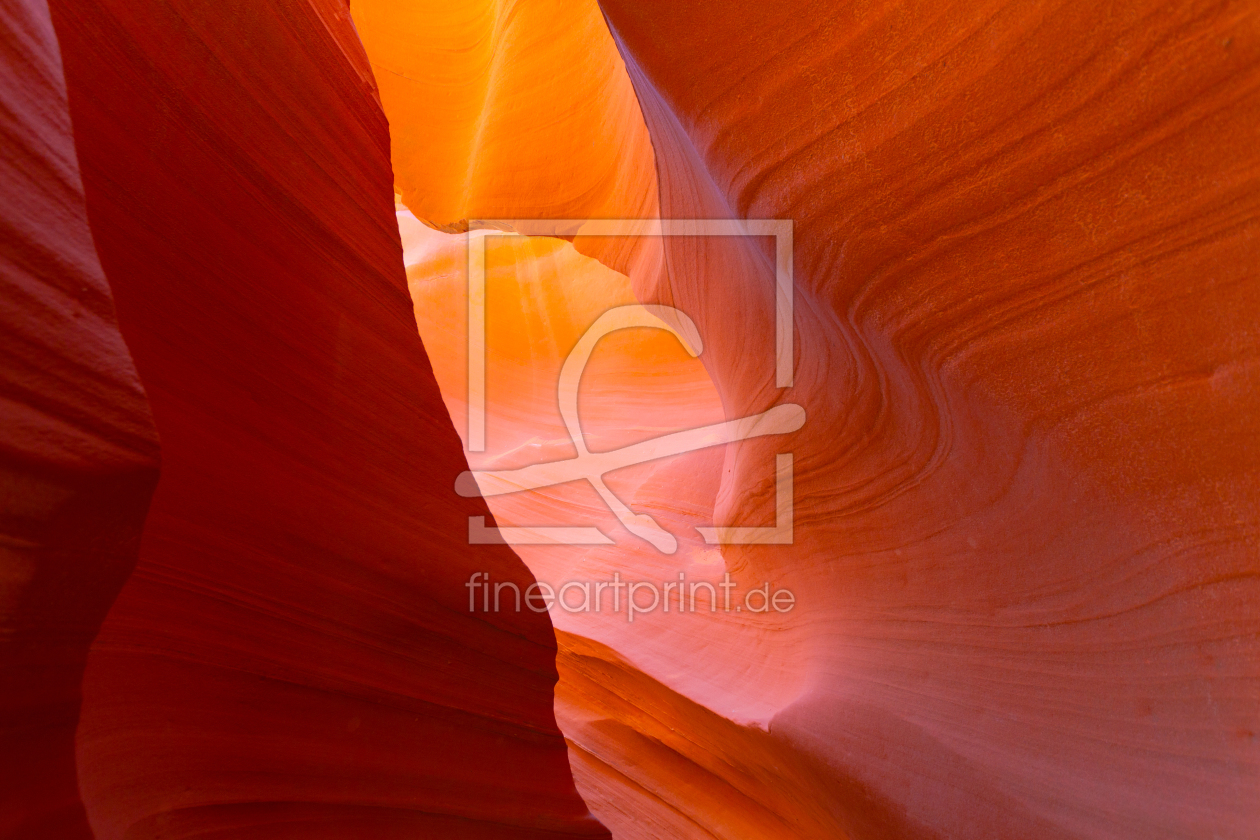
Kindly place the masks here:
POLYGON ((96 836, 607 836, 544 616, 469 616, 480 500, 416 336, 345 9, 57 1, 88 214, 163 442, 78 730, 96 836))

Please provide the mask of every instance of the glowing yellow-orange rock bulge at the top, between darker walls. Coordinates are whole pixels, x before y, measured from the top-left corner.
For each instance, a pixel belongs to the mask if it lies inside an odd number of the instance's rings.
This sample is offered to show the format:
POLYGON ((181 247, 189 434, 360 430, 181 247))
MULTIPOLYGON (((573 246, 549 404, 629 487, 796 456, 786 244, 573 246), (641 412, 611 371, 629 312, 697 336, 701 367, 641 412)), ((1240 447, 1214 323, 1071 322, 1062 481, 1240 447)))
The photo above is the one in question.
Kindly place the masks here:
POLYGON ((597 5, 352 9, 389 117, 394 183, 421 218, 655 212, 646 126, 597 5))

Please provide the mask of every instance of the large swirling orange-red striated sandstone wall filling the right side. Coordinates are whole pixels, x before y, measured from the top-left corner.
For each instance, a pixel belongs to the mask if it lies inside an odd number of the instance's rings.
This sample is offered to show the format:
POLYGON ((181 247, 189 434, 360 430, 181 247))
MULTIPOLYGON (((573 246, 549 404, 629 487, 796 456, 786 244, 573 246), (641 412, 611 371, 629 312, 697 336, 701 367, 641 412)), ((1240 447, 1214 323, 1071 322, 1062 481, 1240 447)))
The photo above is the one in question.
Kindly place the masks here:
MULTIPOLYGON (((741 353, 764 248, 670 242, 640 293, 736 414, 809 414, 795 544, 724 550, 799 596, 767 728, 800 783, 853 836, 1251 836, 1254 4, 601 5, 662 215, 795 220, 790 392, 741 353)), ((719 520, 765 514, 728 486, 719 520)))

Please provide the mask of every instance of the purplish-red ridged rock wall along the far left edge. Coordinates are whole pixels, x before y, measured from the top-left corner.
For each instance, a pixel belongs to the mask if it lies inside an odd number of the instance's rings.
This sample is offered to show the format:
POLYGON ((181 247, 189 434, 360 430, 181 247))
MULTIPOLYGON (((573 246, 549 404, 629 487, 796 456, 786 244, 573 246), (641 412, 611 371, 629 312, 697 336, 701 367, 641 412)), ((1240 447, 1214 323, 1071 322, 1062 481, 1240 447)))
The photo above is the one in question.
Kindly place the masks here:
POLYGON ((136 563, 158 436, 88 230, 44 0, 0 6, 0 836, 91 837, 88 645, 136 563))

